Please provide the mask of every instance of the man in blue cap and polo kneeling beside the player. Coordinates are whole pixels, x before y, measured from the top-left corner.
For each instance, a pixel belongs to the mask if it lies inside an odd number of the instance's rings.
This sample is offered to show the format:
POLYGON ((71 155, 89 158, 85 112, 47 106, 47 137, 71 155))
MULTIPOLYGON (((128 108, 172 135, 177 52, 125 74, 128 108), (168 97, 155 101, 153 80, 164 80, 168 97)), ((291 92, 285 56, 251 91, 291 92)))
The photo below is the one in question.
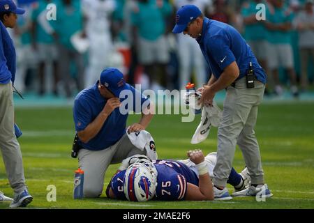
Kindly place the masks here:
POLYGON ((81 147, 78 159, 79 167, 84 171, 84 197, 100 196, 109 164, 119 163, 131 155, 145 154, 130 142, 126 134, 128 112, 124 114, 119 109, 124 100, 130 102, 125 106, 126 111, 142 113, 140 122, 130 125, 128 132, 145 130, 153 118, 152 104, 133 86, 126 84, 124 75, 116 68, 103 70, 96 84, 75 98, 73 116, 81 147), (121 92, 128 93, 131 98, 123 98, 121 92))

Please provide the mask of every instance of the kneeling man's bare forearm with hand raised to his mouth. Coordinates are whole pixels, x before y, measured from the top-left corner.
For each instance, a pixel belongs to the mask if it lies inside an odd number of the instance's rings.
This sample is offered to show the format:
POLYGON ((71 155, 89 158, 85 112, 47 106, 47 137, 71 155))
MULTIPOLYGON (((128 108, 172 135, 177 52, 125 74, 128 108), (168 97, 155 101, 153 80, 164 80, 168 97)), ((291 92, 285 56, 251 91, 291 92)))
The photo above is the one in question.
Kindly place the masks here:
POLYGON ((78 137, 83 143, 87 143, 89 140, 93 139, 96 134, 100 131, 100 129, 103 127, 103 123, 107 120, 107 117, 110 116, 112 111, 119 107, 121 105, 121 102, 119 98, 110 98, 107 100, 105 107, 103 108, 103 111, 98 114, 98 116, 87 125, 87 128, 84 130, 77 132, 78 137))

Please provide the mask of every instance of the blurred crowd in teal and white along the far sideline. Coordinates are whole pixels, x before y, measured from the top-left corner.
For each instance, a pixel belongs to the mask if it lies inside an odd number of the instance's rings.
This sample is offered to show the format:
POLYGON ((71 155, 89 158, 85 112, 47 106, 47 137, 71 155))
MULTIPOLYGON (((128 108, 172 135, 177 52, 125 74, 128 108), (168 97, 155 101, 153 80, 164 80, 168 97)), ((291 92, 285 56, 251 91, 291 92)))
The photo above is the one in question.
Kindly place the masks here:
POLYGON ((297 97, 314 90, 313 0, 17 3, 27 8, 10 31, 17 48, 15 88, 24 94, 73 98, 111 66, 124 72, 128 83, 142 84, 142 90, 184 89, 190 81, 202 86, 210 71, 197 42, 171 32, 175 13, 185 4, 243 35, 267 71, 267 95, 289 91, 297 97), (257 20, 257 14, 265 20, 257 20))

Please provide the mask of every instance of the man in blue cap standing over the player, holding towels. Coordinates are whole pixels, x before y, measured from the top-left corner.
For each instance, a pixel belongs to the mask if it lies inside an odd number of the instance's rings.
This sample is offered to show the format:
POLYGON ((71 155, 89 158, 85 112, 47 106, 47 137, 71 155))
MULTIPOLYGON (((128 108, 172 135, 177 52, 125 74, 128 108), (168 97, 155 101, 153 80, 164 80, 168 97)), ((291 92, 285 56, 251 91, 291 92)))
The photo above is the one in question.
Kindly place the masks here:
POLYGON ((251 186, 236 196, 271 197, 266 184, 255 137, 257 106, 262 102, 266 74, 241 34, 223 22, 209 20, 193 5, 177 11, 173 33, 188 34, 199 43, 211 70, 211 78, 202 91, 202 105, 212 106, 216 92, 226 89, 223 116, 218 128, 217 163, 214 168, 215 199, 232 199, 225 187, 232 169, 234 151, 239 145, 244 155, 251 186), (251 72, 251 70, 253 70, 251 72))

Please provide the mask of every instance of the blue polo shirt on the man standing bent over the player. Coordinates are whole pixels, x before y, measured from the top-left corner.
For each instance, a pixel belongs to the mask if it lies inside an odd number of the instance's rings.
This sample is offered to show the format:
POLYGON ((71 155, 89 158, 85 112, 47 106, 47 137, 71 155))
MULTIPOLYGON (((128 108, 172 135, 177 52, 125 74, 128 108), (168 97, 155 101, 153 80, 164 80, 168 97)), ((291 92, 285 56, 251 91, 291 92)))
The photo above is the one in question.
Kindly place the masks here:
POLYGON ((232 26, 204 17, 202 36, 197 38, 200 49, 214 77, 218 79, 223 70, 236 61, 240 70, 237 79, 246 75, 250 62, 257 79, 266 84, 266 74, 257 63, 251 47, 232 26))

